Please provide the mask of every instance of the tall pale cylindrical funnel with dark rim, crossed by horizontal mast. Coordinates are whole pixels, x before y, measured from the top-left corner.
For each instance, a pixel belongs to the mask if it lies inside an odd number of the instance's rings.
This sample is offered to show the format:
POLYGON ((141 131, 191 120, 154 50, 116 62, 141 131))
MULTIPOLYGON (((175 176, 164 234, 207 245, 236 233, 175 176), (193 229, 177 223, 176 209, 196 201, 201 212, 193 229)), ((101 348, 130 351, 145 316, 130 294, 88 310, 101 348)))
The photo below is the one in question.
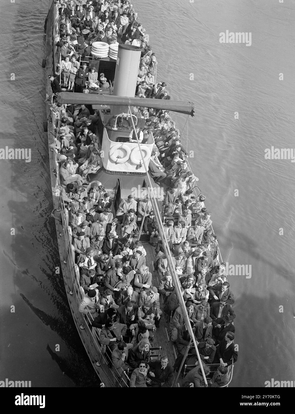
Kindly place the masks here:
MULTIPOLYGON (((140 56, 141 49, 137 46, 119 45, 113 95, 134 98, 140 56)), ((128 113, 128 106, 112 106, 111 115, 118 113, 128 113)))

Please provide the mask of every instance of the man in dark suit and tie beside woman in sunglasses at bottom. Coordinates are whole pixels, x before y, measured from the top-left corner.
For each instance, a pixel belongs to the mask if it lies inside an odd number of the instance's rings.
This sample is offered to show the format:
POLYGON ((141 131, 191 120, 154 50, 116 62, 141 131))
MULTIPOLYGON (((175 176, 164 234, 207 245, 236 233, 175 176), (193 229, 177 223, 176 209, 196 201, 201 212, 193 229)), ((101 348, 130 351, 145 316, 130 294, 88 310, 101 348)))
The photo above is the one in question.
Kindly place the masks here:
POLYGON ((151 361, 147 376, 153 388, 170 388, 173 381, 173 368, 169 364, 168 356, 162 356, 161 361, 151 361))

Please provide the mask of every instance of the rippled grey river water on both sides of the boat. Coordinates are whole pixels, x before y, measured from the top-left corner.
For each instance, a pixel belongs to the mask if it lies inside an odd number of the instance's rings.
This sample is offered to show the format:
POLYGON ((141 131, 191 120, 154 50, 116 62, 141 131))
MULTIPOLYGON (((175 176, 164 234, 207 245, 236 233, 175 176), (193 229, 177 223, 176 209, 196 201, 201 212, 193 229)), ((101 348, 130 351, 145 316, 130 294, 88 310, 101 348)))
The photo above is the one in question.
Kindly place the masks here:
MULTIPOLYGON (((0 160, 0 380, 97 385, 63 282, 54 273, 59 257, 49 218, 41 67, 48 2, 0 0, 0 5, 0 148, 31 149, 30 163, 0 160)), ((190 164, 212 212, 222 259, 251 269, 248 277, 229 277, 239 346, 231 386, 294 380, 294 164, 266 160, 264 153, 272 146, 295 147, 295 1, 138 0, 133 5, 157 55, 157 79, 167 83, 172 99, 195 103, 182 140, 192 151, 190 164), (220 43, 226 30, 251 32, 251 46, 220 43)), ((186 116, 173 118, 182 130, 186 116)))

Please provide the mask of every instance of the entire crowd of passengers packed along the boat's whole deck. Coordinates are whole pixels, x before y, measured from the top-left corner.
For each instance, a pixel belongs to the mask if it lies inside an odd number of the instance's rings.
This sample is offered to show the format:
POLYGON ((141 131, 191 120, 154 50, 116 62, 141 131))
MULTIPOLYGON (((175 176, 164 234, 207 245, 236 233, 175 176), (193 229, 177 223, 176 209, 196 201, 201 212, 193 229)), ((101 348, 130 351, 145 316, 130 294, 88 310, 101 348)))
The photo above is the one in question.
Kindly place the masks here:
MULTIPOLYGON (((80 71, 77 65, 80 56, 91 58, 90 53, 85 56, 89 38, 95 39, 92 36, 97 34, 102 36, 100 32, 103 31, 110 41, 109 26, 116 26, 116 30, 111 31, 112 36, 117 34, 116 39, 120 37, 125 43, 140 39, 145 43, 147 51, 143 53, 138 72, 138 96, 170 99, 167 85, 154 83, 155 55, 144 39, 144 30, 137 23, 138 16, 128 0, 124 4, 71 0, 60 2, 59 11, 60 30, 63 30, 63 22, 67 29, 66 41, 61 46, 66 47, 63 65, 72 62, 80 71), (81 40, 73 42, 72 36, 74 32, 75 36, 85 36, 86 30, 88 40, 84 37, 85 48, 82 45, 80 50, 81 40), (70 46, 68 37, 73 43, 70 46), (77 52, 81 53, 78 57, 77 52)), ((50 77, 53 94, 57 95, 59 84, 56 77, 50 77)), ((73 79, 69 76, 68 82, 76 82, 77 78, 73 79)), ((118 376, 123 371, 130 373, 130 387, 171 387, 174 371, 178 371, 184 356, 186 371, 182 386, 204 387, 196 353, 193 348, 186 352, 191 337, 150 201, 129 195, 115 211, 111 189, 108 191, 103 185, 89 182, 89 174, 102 168, 96 134, 98 112, 85 105, 60 105, 56 101, 51 111, 58 119, 57 140, 51 147, 60 164, 60 195, 69 211, 75 263, 84 292, 80 313, 92 315, 92 327, 97 330, 110 365, 118 376), (146 262, 145 247, 135 238, 141 220, 143 231, 155 248, 154 269, 159 277, 156 286, 151 263, 146 262), (170 339, 177 349, 175 363, 167 356, 159 361, 151 360, 150 344, 163 317, 169 323, 170 339)), ((155 185, 165 190, 164 232, 208 385, 220 387, 229 382, 228 367, 237 360, 232 309, 235 297, 227 281, 225 263, 219 260, 218 240, 211 226, 212 214, 205 207, 205 196, 194 195, 198 178, 189 168, 181 133, 169 111, 134 107, 134 113, 145 118, 145 130, 152 132, 155 138, 149 172, 155 185)), ((138 137, 143 137, 144 132, 137 130, 138 137)), ((133 138, 132 132, 130 140, 133 138)))

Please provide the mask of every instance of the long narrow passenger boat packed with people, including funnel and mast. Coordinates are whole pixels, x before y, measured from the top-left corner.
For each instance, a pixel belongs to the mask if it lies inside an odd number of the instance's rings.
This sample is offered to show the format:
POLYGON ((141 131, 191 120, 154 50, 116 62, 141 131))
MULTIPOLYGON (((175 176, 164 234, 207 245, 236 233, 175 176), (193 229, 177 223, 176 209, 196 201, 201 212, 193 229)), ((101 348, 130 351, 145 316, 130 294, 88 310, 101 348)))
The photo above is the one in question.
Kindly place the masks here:
POLYGON ((98 386, 227 387, 235 297, 171 115, 193 103, 128 0, 53 1, 44 30, 51 215, 98 386))

